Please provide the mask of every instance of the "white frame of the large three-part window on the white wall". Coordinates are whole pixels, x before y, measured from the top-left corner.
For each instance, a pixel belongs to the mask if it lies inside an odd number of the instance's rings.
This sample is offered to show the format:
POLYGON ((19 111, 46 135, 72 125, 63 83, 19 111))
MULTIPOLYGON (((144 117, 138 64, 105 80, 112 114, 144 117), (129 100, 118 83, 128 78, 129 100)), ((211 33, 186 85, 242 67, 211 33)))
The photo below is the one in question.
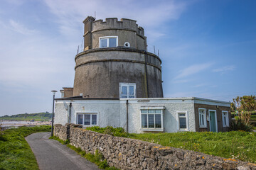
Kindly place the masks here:
MULTIPOLYGON (((156 132, 163 132, 164 131, 164 107, 142 107, 140 108, 140 124, 142 131, 156 131, 156 132), (160 113, 142 113, 142 110, 160 110, 160 113), (142 115, 155 115, 161 114, 161 128, 155 128, 155 116, 154 116, 154 128, 142 128, 142 115)), ((149 116, 147 116, 147 127, 149 127, 149 116)))

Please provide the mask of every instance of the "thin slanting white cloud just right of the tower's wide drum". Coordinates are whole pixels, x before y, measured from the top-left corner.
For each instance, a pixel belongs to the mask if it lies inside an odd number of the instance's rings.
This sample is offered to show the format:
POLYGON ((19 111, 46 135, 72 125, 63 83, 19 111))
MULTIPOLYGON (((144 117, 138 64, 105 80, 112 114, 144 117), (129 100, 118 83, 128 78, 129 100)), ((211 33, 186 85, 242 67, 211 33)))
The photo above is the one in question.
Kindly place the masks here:
POLYGON ((183 77, 191 76, 192 74, 196 74, 198 72, 202 72, 205 69, 208 69, 213 65, 212 62, 203 63, 203 64, 193 64, 190 67, 186 67, 186 69, 181 69, 179 74, 174 79, 181 79, 183 77))

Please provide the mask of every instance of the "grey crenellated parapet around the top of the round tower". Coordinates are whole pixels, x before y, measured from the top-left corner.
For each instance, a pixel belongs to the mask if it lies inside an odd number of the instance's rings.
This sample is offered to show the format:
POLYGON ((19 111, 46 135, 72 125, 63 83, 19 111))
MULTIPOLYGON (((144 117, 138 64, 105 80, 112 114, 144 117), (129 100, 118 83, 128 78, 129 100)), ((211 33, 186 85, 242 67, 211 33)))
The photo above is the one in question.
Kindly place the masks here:
POLYGON ((138 26, 136 21, 131 19, 121 18, 121 20, 118 21, 117 18, 106 18, 105 21, 97 20, 92 22, 92 33, 98 30, 107 29, 132 30, 144 37, 144 29, 138 26))

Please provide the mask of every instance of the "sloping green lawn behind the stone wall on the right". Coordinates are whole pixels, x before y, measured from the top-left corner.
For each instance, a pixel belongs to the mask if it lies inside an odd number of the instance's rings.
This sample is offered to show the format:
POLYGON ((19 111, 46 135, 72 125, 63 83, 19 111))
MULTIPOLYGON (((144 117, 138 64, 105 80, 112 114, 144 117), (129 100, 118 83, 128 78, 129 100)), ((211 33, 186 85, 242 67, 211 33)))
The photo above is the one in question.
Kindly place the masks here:
POLYGON ((129 138, 256 163, 255 132, 178 132, 129 134, 129 138))

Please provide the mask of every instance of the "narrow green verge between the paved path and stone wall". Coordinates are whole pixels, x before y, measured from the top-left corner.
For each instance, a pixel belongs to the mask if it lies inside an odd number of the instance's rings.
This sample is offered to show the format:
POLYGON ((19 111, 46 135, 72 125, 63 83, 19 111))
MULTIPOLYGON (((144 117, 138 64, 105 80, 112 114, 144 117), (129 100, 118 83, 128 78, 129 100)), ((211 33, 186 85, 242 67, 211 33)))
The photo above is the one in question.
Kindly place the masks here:
POLYGON ((82 151, 81 148, 74 147, 72 145, 69 145, 69 140, 60 140, 58 137, 50 137, 50 139, 58 140, 58 142, 62 143, 63 145, 67 145, 70 149, 73 149, 75 152, 80 154, 82 157, 85 157, 88 161, 95 163, 97 166, 99 166, 100 169, 106 169, 106 170, 118 170, 114 166, 109 166, 107 164, 107 160, 103 159, 102 154, 99 153, 98 150, 96 150, 95 154, 86 153, 85 151, 82 151))

